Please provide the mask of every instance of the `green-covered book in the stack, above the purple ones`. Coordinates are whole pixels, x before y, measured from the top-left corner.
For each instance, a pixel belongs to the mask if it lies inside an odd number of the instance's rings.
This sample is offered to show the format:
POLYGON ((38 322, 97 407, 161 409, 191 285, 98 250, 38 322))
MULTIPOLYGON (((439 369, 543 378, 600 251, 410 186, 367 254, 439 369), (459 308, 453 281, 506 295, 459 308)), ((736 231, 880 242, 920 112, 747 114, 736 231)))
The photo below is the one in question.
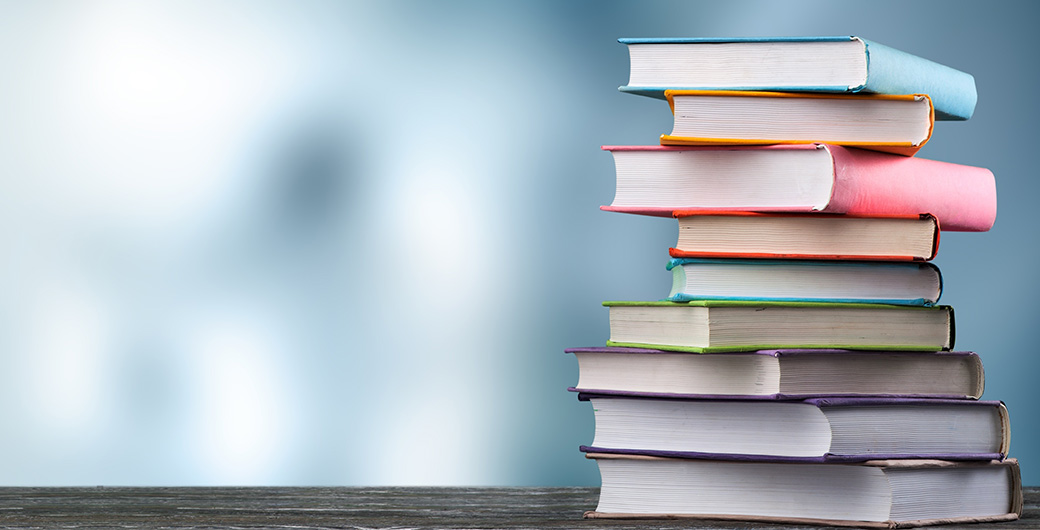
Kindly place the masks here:
POLYGON ((669 351, 951 350, 954 310, 879 303, 605 301, 607 346, 669 351))

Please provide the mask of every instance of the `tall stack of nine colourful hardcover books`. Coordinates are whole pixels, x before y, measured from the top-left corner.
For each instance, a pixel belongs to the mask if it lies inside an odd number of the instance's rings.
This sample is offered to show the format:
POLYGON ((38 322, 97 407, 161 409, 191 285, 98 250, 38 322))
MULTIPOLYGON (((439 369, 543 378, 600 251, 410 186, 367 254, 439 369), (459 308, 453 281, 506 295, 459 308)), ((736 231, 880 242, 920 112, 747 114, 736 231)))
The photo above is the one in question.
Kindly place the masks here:
POLYGON ((858 37, 621 42, 621 90, 675 120, 660 145, 603 148, 603 209, 679 237, 668 297, 604 302, 606 347, 568 350, 602 477, 586 516, 1017 519, 1008 410, 980 400, 929 263, 940 228, 993 224, 994 178, 914 157, 971 116, 972 77, 858 37))

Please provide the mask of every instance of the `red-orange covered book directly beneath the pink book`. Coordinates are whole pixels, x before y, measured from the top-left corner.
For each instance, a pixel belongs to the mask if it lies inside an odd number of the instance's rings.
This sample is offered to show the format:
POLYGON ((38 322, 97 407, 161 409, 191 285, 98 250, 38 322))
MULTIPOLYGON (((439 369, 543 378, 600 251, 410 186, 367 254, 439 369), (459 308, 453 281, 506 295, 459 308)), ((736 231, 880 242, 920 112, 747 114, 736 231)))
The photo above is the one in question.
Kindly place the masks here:
POLYGON ((931 214, 861 217, 679 210, 673 258, 929 261, 939 247, 931 214))

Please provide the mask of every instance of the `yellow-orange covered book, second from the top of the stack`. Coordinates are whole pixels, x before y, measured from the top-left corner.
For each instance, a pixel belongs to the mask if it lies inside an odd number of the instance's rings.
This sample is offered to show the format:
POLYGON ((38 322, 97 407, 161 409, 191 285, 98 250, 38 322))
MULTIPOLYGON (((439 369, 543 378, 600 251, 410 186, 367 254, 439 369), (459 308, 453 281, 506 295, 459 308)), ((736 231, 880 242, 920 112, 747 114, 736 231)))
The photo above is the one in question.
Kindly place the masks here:
POLYGON ((661 145, 835 143, 913 156, 932 136, 927 95, 665 90, 674 116, 661 145))

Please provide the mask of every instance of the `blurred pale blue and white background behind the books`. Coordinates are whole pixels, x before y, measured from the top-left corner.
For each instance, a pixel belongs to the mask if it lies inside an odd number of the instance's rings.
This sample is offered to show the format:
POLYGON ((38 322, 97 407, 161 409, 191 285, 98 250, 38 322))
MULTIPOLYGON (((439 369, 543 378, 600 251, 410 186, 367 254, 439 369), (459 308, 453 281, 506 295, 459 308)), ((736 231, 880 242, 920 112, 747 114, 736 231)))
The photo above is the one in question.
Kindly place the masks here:
POLYGON ((976 76, 996 175, 936 263, 1040 484, 1030 1, 0 2, 0 484, 593 485, 563 350, 674 221, 621 36, 861 35, 976 76))

